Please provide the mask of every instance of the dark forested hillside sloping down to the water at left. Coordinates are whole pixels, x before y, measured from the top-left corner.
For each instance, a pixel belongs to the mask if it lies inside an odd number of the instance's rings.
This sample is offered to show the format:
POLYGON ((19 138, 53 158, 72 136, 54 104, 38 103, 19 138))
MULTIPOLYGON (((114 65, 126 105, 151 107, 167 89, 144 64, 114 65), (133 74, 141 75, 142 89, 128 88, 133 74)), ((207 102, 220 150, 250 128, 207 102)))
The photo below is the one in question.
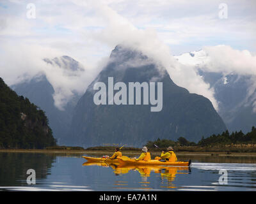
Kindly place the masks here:
POLYGON ((54 145, 45 113, 0 78, 0 148, 44 149, 54 145))

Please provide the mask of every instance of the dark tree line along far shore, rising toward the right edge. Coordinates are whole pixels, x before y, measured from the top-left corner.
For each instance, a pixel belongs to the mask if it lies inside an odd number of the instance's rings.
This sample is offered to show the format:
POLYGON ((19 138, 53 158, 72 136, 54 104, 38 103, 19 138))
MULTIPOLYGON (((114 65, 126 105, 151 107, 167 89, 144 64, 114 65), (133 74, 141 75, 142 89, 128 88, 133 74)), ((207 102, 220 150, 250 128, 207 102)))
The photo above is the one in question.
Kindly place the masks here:
MULTIPOLYGON (((198 142, 189 142, 184 137, 180 137, 177 141, 160 139, 154 141, 148 141, 145 146, 150 149, 151 152, 157 152, 154 144, 156 144, 160 149, 165 149, 166 147, 172 146, 176 152, 256 152, 256 128, 253 126, 252 131, 244 134, 242 131, 232 132, 224 131, 218 135, 211 135, 207 138, 202 136, 202 139, 198 142)), ((118 147, 118 144, 109 146, 98 146, 98 147, 88 147, 84 149, 83 147, 68 147, 68 146, 58 146, 54 145, 51 147, 45 147, 45 151, 60 150, 60 151, 113 151, 118 147)), ((14 148, 15 149, 15 148, 14 148)), ((13 150, 14 150, 13 149, 13 150)), ((3 150, 3 149, 2 149, 3 150)), ((7 150, 7 149, 5 149, 7 150)), ((123 147, 122 151, 125 152, 138 152, 141 148, 136 147, 123 147)))

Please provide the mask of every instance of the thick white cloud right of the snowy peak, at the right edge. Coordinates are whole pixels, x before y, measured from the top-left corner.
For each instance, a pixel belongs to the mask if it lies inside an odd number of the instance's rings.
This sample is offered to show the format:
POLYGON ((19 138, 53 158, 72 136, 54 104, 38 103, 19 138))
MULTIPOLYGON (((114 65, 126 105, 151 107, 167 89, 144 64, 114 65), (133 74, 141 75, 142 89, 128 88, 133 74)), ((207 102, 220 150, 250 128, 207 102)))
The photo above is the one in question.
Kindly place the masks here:
POLYGON ((199 67, 204 71, 218 72, 224 76, 229 73, 250 76, 244 105, 252 103, 253 112, 256 112, 256 55, 252 55, 248 50, 235 50, 227 45, 203 47, 203 50, 207 57, 199 67))

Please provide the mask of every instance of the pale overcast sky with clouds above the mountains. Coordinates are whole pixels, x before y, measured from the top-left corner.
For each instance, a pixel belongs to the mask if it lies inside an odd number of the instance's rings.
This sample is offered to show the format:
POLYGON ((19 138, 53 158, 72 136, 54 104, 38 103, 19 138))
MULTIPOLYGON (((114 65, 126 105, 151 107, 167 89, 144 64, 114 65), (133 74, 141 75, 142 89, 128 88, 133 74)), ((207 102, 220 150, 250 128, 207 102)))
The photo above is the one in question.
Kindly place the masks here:
MULTIPOLYGON (((21 75, 33 77, 49 70, 41 59, 69 55, 86 69, 87 78, 77 82, 86 87, 115 45, 126 43, 160 61, 174 82, 206 96, 217 107, 214 90, 195 71, 189 69, 189 77, 188 68, 170 56, 225 45, 224 53, 230 54, 231 61, 234 52, 237 57, 246 50, 251 70, 256 53, 255 22, 254 0, 1 0, 0 77, 12 85, 21 75)), ((56 82, 56 87, 64 81, 56 82)), ((72 83, 64 84, 71 91, 82 91, 72 83)))

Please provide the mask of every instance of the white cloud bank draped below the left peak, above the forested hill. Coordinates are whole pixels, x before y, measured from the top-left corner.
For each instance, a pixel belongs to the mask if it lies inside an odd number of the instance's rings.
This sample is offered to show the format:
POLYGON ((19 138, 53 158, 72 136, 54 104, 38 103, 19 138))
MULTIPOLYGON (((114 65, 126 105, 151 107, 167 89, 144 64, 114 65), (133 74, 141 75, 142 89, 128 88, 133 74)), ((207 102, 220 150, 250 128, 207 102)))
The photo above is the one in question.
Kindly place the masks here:
POLYGON ((0 76, 4 77, 6 84, 19 84, 44 74, 54 89, 54 105, 60 110, 65 109, 74 94, 83 94, 100 70, 99 66, 94 69, 84 68, 84 71, 74 74, 74 71, 63 66, 60 68, 56 64, 46 63, 44 58, 53 59, 63 55, 63 52, 53 48, 22 43, 15 44, 15 49, 10 45, 1 46, 4 53, 0 57, 0 76))

